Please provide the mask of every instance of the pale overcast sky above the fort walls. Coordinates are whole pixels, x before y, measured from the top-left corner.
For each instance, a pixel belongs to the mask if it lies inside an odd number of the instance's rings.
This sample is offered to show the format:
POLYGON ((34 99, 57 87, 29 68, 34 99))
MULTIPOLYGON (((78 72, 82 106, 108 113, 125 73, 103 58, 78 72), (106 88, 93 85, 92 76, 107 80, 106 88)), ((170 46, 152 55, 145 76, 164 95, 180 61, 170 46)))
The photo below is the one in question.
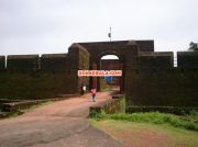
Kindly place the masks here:
POLYGON ((198 42, 198 0, 0 0, 0 55, 67 53, 75 42, 154 39, 155 50, 198 42))

